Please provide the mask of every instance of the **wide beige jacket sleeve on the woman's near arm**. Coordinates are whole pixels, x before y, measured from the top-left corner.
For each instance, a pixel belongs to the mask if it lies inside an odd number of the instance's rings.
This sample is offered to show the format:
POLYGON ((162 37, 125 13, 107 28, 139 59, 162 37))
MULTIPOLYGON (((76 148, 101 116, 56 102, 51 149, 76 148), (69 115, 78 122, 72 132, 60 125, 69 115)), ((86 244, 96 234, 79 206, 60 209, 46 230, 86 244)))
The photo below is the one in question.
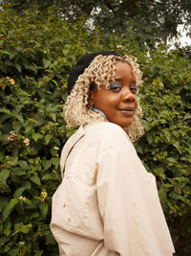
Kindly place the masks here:
POLYGON ((98 158, 97 200, 109 250, 121 256, 172 256, 155 177, 144 169, 129 138, 105 144, 98 158))

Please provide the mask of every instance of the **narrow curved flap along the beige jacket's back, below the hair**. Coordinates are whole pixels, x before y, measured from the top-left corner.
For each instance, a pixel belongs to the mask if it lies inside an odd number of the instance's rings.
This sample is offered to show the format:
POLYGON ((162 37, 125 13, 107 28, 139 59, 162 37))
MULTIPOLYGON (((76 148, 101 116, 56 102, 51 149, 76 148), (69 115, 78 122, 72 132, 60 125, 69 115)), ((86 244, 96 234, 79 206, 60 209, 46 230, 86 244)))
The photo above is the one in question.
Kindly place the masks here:
POLYGON ((77 143, 77 141, 79 141, 84 135, 85 135, 84 128, 83 126, 80 126, 66 142, 61 152, 61 161, 60 161, 61 176, 63 176, 65 163, 70 152, 74 148, 74 145, 77 143))

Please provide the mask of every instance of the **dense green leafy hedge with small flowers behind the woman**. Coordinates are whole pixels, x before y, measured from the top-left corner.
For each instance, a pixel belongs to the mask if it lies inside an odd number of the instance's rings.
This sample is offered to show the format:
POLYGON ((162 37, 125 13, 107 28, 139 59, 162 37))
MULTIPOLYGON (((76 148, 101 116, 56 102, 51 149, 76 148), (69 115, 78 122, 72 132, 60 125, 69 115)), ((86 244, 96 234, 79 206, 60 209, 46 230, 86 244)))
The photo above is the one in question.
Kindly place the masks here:
POLYGON ((133 27, 118 36, 91 32, 52 9, 0 11, 0 254, 58 255, 49 223, 67 131, 62 107, 69 71, 87 52, 138 58, 145 135, 136 145, 159 197, 177 255, 191 252, 191 61, 164 45, 140 50, 133 27))

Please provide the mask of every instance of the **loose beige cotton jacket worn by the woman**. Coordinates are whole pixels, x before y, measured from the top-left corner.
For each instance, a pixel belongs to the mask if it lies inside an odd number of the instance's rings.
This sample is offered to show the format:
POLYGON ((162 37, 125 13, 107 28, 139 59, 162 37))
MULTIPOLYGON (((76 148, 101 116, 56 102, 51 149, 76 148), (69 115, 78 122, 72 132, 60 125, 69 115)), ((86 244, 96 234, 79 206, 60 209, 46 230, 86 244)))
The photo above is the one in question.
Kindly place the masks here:
POLYGON ((122 128, 107 122, 78 128, 60 165, 51 222, 60 255, 173 255, 155 177, 122 128))

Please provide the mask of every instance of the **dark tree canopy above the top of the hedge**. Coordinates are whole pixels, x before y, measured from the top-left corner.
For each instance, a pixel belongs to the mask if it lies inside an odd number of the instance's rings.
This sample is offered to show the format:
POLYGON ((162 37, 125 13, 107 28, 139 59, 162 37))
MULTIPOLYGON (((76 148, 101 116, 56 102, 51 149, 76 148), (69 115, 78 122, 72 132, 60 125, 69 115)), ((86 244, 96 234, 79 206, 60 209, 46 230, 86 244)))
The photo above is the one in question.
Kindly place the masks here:
POLYGON ((55 6, 57 13, 74 23, 83 16, 99 25, 104 32, 127 34, 132 26, 140 45, 154 47, 156 42, 178 36, 178 26, 191 25, 190 0, 4 0, 15 4, 12 8, 21 12, 37 4, 42 12, 55 6))

